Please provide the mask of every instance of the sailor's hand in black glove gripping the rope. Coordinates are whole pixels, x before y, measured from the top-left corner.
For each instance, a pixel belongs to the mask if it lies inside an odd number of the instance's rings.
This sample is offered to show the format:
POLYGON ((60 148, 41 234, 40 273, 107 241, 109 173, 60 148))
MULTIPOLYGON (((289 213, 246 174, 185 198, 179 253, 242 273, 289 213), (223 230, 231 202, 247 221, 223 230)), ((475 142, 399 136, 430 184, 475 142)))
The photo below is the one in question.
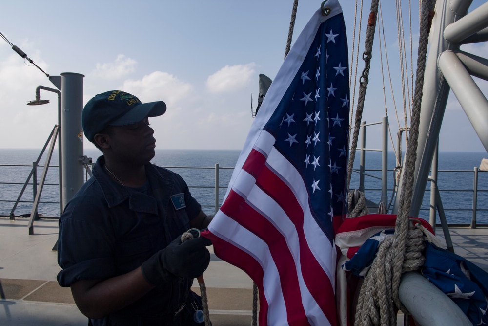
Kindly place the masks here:
POLYGON ((171 282, 177 277, 199 277, 210 262, 210 252, 205 247, 211 244, 203 237, 182 243, 180 236, 142 263, 142 275, 152 285, 171 282))

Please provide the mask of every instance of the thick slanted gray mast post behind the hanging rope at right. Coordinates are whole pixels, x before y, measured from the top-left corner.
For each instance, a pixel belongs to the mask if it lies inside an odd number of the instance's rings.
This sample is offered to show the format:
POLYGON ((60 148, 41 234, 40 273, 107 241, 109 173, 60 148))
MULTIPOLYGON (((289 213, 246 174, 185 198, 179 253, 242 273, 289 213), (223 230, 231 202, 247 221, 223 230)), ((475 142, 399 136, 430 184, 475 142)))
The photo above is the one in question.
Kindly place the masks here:
MULTIPOLYGON (((458 48, 458 44, 448 43, 444 38, 445 28, 465 16, 472 0, 437 1, 435 16, 430 30, 430 50, 427 57, 425 82, 420 112, 417 160, 415 161, 414 186, 410 216, 419 215, 424 197, 427 177, 437 146, 442 119, 446 110, 450 87, 437 68, 437 58, 446 50, 458 48)), ((407 154, 405 154, 407 155, 407 154)), ((400 179, 392 213, 398 213, 403 182, 400 179)))

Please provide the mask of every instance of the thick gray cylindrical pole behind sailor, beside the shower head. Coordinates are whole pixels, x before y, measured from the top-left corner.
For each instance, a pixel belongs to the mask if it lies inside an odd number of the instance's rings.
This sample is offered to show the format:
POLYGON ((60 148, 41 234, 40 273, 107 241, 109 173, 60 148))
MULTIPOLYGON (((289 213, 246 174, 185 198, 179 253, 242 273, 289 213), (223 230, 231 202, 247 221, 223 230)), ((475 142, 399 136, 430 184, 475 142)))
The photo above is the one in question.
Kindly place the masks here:
POLYGON ((84 75, 64 72, 61 74, 62 110, 62 207, 83 185, 83 109, 84 75))

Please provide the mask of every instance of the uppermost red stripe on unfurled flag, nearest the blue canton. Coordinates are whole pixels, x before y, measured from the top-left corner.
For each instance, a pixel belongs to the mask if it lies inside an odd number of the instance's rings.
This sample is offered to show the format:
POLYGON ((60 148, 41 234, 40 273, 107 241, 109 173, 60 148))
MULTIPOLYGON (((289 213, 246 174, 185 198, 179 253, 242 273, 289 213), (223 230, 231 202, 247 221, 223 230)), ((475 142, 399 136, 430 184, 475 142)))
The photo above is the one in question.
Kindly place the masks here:
MULTIPOLYGON (((336 323, 334 289, 328 275, 308 247, 302 207, 288 185, 264 165, 265 160, 263 154, 253 150, 244 163, 243 169, 248 169, 246 172, 256 178, 258 187, 280 205, 295 225, 300 243, 300 264, 305 284, 327 319, 334 325, 336 323), (256 162, 260 164, 256 164, 256 162)), ((317 225, 317 227, 319 226, 317 225)), ((334 268, 335 266, 330 266, 330 270, 334 268)))

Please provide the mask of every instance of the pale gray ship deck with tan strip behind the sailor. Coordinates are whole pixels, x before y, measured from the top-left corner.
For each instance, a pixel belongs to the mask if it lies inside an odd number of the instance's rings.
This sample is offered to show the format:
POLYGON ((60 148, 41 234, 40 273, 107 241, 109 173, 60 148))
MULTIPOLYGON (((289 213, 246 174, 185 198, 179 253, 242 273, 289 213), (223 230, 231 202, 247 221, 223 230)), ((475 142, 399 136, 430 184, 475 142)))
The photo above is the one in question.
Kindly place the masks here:
MULTIPOLYGON (((0 217, 0 325, 87 325, 70 289, 56 281, 60 267, 52 249, 58 239, 58 221, 35 221, 33 235, 28 235, 27 224, 27 218, 0 217)), ((454 251, 488 271, 488 227, 449 229, 454 251)), ((436 231, 443 239, 442 230, 436 231)), ((213 325, 251 325, 251 279, 213 254, 204 278, 213 325)))

